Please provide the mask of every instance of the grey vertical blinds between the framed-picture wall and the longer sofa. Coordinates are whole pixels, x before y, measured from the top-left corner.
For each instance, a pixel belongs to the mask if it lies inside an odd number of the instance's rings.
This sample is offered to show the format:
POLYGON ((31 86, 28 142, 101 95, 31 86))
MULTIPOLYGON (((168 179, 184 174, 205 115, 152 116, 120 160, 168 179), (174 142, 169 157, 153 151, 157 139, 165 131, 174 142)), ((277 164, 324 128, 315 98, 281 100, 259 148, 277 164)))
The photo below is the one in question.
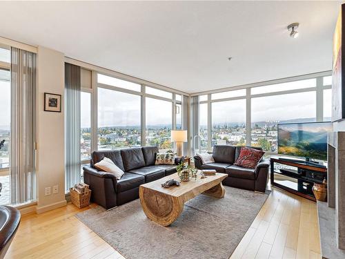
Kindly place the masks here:
POLYGON ((66 190, 81 181, 80 66, 65 63, 66 190))

